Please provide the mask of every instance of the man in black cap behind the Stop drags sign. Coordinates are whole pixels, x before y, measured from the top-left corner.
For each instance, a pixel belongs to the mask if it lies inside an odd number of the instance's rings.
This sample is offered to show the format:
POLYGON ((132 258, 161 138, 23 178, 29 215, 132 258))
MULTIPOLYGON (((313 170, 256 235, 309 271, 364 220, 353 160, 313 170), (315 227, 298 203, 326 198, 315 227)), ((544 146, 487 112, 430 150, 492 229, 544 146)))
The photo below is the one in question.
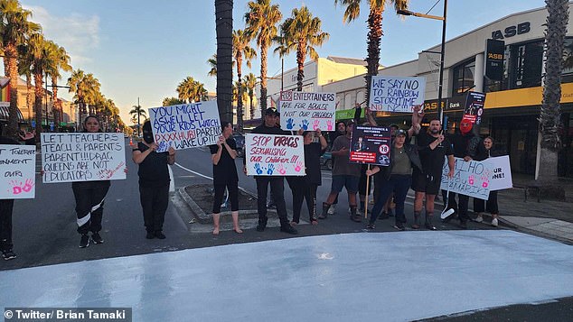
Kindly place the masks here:
MULTIPOLYGON (((251 133, 257 134, 277 134, 277 135, 289 135, 290 133, 281 130, 277 127, 278 119, 277 109, 274 107, 269 107, 265 110, 264 122, 258 125, 251 133)), ((243 158, 243 164, 246 163, 246 158, 243 158)), ((245 173, 247 168, 245 168, 245 173)), ((267 227, 267 195, 268 195, 268 184, 270 184, 270 193, 274 198, 275 204, 277 205, 277 215, 280 219, 280 231, 296 235, 298 232, 291 226, 288 222, 288 217, 286 216, 286 203, 285 203, 285 177, 284 176, 255 176, 257 181, 257 209, 258 209, 258 225, 257 231, 262 232, 267 227)))

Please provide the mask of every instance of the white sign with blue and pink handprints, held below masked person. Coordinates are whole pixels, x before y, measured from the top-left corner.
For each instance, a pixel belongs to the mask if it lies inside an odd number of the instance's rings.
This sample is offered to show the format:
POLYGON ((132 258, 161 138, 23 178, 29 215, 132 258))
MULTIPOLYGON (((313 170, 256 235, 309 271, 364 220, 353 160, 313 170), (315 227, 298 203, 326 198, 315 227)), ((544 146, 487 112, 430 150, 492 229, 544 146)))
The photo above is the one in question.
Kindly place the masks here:
POLYGON ((454 167, 454 176, 451 179, 447 178, 449 171, 447 157, 444 161, 441 189, 487 200, 490 195, 490 178, 492 177, 489 164, 484 161, 455 159, 456 166, 454 167))

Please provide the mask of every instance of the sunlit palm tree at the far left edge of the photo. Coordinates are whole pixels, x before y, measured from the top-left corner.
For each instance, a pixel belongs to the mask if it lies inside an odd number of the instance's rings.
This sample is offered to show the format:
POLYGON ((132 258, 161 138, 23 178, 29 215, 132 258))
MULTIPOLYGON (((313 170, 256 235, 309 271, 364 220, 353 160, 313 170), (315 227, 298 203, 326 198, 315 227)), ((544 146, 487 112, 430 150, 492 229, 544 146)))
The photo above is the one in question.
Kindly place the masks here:
POLYGON ((17 0, 0 0, 0 40, 4 51, 5 72, 10 78, 10 108, 8 132, 17 137, 18 131, 18 46, 23 44, 31 32, 40 31, 40 25, 29 22, 32 12, 24 10, 17 0))

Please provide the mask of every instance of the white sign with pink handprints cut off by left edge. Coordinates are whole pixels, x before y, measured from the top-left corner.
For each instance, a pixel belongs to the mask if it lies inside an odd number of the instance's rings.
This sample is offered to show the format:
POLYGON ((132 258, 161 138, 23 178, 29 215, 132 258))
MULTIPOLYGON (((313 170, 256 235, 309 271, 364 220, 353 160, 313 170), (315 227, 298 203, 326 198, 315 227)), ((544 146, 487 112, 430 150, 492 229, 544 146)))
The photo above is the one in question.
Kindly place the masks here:
POLYGON ((0 145, 0 166, 0 199, 34 198, 35 145, 0 145))

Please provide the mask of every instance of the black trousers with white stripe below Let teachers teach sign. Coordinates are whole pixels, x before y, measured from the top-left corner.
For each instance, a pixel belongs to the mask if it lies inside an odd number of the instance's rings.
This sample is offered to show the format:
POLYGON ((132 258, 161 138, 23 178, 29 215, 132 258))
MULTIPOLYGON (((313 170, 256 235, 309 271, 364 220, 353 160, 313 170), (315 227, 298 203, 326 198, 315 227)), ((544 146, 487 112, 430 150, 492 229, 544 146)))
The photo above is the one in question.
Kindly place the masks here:
POLYGON ((78 233, 98 233, 101 230, 103 204, 109 190, 109 181, 73 182, 73 196, 76 198, 78 233))

